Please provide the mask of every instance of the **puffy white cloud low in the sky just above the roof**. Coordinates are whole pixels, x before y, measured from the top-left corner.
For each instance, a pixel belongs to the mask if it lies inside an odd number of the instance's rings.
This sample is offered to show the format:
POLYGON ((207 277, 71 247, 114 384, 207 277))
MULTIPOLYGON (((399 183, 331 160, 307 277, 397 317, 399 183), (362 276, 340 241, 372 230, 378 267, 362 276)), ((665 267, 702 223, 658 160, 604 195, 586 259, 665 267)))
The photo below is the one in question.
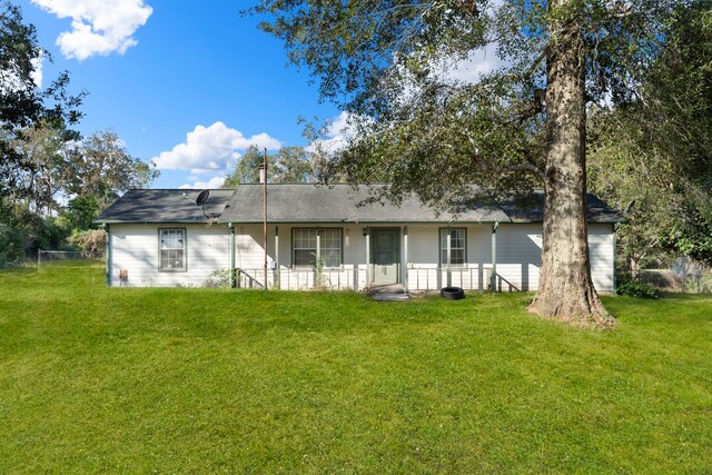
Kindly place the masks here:
POLYGON ((188 132, 185 142, 170 151, 162 151, 152 160, 159 170, 190 169, 191 174, 204 175, 204 171, 225 169, 229 161, 240 158, 237 150, 245 150, 251 145, 269 150, 281 147, 279 140, 265 132, 247 138, 239 130, 218 121, 210 127, 197 126, 188 132))

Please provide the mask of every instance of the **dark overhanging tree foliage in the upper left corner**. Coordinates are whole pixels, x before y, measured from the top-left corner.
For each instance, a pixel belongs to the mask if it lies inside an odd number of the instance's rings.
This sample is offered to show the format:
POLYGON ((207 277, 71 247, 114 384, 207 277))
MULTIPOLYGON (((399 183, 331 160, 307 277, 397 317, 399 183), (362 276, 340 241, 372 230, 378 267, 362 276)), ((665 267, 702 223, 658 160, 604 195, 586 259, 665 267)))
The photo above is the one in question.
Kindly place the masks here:
POLYGON ((51 58, 38 44, 34 27, 23 23, 19 7, 4 2, 0 9, 0 194, 14 196, 26 189, 26 172, 34 175, 36 164, 13 147, 13 140, 40 122, 76 123, 85 93, 68 95, 67 72, 39 89, 33 71, 42 59, 51 58))

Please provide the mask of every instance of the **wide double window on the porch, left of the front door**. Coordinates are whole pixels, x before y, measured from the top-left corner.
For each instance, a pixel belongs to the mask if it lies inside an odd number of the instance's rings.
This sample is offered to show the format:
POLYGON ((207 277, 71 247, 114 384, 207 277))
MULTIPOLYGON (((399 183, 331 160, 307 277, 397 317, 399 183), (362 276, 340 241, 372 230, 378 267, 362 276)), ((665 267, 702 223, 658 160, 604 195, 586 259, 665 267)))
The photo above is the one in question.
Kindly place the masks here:
POLYGON ((293 263, 295 267, 316 267, 316 256, 324 260, 324 267, 342 265, 340 229, 293 229, 293 263))

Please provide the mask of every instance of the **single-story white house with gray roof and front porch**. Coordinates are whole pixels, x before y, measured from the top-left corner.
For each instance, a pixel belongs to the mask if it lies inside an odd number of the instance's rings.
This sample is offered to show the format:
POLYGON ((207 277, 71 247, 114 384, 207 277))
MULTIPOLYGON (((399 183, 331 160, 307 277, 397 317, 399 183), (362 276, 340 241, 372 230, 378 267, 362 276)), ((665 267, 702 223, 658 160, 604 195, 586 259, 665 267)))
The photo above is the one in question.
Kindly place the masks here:
MULTIPOLYGON (((194 191, 130 190, 97 218, 108 231, 107 285, 202 286, 234 269, 236 287, 536 289, 541 206, 472 202, 436 214, 416 197, 364 205, 373 191, 268 185, 265 236, 263 185, 210 190, 202 206, 194 191)), ((599 291, 613 291, 621 217, 593 195, 587 202, 592 278, 599 291)))

